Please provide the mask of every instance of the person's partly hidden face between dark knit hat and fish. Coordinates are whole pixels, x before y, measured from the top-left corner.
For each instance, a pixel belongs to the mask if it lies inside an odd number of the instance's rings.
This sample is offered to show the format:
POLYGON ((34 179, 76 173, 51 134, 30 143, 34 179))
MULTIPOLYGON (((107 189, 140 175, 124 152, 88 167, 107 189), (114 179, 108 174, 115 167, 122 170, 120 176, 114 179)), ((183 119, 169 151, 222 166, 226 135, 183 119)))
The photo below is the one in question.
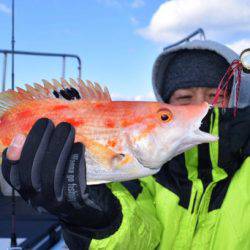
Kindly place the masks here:
MULTIPOLYGON (((169 99, 172 105, 189 105, 208 102, 212 104, 217 88, 186 88, 176 90, 169 99)), ((222 107, 224 96, 221 93, 217 102, 218 107, 222 107)), ((229 97, 226 96, 224 105, 227 106, 229 97)))

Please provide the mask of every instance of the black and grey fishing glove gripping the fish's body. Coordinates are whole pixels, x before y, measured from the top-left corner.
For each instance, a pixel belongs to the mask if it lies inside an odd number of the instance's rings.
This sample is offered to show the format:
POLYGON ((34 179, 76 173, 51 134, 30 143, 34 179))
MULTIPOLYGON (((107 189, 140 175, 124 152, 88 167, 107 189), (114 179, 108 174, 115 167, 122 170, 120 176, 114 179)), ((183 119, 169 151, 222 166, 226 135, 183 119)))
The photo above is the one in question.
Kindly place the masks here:
POLYGON ((57 216, 69 231, 103 238, 120 225, 120 203, 106 185, 86 185, 85 148, 74 139, 70 124, 55 128, 48 119, 38 120, 20 160, 10 161, 3 152, 3 176, 25 201, 57 216))

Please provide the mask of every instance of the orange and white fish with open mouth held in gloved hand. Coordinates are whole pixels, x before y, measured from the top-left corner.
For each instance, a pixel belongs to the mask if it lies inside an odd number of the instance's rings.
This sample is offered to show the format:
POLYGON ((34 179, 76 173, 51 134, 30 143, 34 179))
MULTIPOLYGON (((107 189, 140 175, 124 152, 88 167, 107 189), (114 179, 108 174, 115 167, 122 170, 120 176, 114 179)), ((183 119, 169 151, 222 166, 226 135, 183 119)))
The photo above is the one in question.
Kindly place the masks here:
POLYGON ((0 149, 27 135, 41 117, 76 129, 86 147, 87 183, 125 181, 155 174, 174 156, 218 138, 199 130, 209 105, 173 106, 159 102, 112 101, 99 84, 70 79, 0 93, 0 149), (67 101, 53 95, 60 88, 79 93, 67 101))

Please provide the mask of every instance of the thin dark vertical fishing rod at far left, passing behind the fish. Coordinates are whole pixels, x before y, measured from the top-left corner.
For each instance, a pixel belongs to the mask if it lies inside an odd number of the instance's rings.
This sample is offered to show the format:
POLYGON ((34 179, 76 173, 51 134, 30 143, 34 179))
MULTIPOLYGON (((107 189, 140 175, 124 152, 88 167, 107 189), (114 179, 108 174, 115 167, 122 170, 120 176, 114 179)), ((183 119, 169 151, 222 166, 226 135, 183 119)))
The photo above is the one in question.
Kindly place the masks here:
MULTIPOLYGON (((15 88, 15 0, 12 0, 12 38, 11 38, 11 88, 15 88)), ((11 215, 11 247, 17 246, 16 240, 16 198, 15 190, 12 188, 12 215, 11 215)))

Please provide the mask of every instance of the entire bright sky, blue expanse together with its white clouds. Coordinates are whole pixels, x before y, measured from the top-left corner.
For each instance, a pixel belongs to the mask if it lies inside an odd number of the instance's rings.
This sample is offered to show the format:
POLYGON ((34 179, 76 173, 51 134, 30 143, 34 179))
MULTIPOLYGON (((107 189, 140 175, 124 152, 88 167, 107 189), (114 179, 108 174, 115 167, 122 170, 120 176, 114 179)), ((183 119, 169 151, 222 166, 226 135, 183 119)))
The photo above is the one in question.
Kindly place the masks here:
MULTIPOLYGON (((4 49, 11 47, 10 6, 0 0, 4 49)), ((238 52, 250 47, 249 0, 16 0, 17 50, 78 54, 82 78, 108 86, 116 99, 152 98, 156 56, 199 27, 238 52)), ((0 57, 0 79, 1 63, 0 57)), ((61 65, 59 59, 17 56, 16 84, 59 78, 61 65)), ((66 69, 66 77, 77 77, 74 61, 66 69)))

